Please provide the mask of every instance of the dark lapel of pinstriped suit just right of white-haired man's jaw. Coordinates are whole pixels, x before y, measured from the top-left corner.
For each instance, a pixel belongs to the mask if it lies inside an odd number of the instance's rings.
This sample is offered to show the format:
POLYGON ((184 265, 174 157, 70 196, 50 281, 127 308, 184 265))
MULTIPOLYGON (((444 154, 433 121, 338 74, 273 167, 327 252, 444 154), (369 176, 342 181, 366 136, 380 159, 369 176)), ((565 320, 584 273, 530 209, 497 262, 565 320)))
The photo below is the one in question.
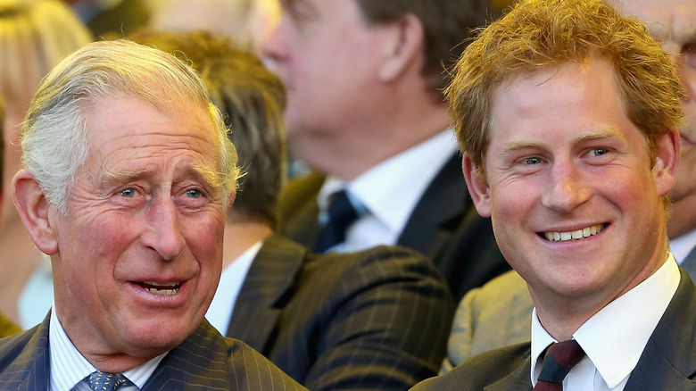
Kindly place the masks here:
POLYGON ((307 251, 278 235, 269 237, 254 258, 237 297, 228 337, 266 352, 273 329, 285 307, 286 294, 302 267, 307 251))

